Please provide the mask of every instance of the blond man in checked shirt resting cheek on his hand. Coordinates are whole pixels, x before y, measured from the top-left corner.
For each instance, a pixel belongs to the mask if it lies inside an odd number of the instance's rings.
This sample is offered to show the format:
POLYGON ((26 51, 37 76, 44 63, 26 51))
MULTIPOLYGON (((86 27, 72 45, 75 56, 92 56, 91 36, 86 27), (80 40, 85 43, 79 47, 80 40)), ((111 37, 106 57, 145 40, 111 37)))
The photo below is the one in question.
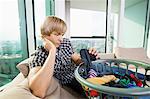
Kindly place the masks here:
MULTIPOLYGON (((74 77, 75 64, 82 61, 80 55, 73 51, 69 39, 63 38, 66 29, 66 23, 54 16, 46 17, 41 27, 44 46, 38 47, 33 54, 29 73, 29 88, 35 96, 45 97, 53 75, 62 85, 76 91, 82 89, 74 77)), ((99 57, 94 48, 89 49, 89 53, 99 57)))

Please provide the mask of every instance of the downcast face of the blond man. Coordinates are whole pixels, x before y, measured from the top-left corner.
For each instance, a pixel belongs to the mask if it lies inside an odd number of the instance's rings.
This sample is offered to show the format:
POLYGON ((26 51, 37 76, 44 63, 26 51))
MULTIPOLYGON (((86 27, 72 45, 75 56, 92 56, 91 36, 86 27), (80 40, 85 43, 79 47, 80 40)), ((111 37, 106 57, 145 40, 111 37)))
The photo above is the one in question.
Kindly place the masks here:
POLYGON ((63 41, 63 33, 53 32, 48 39, 56 46, 59 47, 63 41))

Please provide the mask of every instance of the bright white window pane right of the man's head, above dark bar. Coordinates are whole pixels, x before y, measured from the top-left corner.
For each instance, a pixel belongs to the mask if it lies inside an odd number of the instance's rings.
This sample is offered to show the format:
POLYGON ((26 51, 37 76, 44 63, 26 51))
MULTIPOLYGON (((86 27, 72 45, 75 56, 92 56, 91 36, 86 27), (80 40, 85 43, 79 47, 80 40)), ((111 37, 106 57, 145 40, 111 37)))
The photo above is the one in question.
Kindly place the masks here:
POLYGON ((105 36, 106 12, 70 9, 71 36, 105 36))

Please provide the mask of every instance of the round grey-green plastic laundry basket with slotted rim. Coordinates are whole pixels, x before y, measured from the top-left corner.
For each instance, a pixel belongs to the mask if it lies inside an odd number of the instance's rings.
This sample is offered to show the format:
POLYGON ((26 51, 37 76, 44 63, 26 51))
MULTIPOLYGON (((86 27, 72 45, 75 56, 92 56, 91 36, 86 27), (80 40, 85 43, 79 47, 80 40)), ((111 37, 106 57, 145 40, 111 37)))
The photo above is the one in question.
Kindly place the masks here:
POLYGON ((75 78, 82 85, 89 99, 150 99, 150 85, 148 84, 150 64, 126 59, 104 59, 92 61, 91 63, 96 72, 102 72, 103 67, 109 72, 112 72, 115 68, 118 73, 123 75, 133 73, 136 78, 142 81, 143 87, 117 88, 93 84, 86 80, 88 75, 87 66, 80 64, 75 70, 75 78), (91 95, 92 91, 96 94, 91 95))

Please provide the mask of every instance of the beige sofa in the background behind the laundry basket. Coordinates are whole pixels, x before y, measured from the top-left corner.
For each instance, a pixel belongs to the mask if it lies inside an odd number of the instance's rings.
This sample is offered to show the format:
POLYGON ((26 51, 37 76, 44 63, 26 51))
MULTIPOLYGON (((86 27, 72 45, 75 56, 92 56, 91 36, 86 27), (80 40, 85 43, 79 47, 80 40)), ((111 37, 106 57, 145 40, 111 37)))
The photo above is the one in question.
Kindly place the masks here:
POLYGON ((144 48, 117 47, 114 49, 114 53, 101 53, 100 56, 101 59, 130 59, 150 64, 150 58, 147 56, 144 48))

